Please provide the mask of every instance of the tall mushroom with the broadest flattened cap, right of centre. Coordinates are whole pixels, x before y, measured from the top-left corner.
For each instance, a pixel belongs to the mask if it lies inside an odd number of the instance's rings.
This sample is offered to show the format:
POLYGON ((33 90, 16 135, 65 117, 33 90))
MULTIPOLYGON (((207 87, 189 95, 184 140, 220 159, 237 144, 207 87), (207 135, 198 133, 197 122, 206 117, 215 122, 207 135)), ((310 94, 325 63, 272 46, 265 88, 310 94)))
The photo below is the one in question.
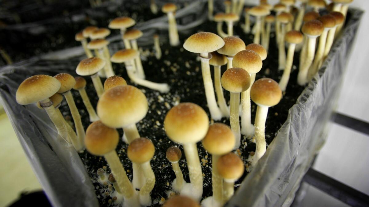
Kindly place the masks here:
POLYGON ((211 80, 210 75, 209 60, 211 57, 209 56, 209 52, 214 52, 223 46, 223 39, 211 32, 199 32, 193 34, 187 38, 186 42, 183 44, 184 49, 193 53, 200 53, 201 72, 203 75, 206 101, 210 111, 210 116, 214 120, 220 120, 222 117, 222 112, 218 108, 217 102, 215 101, 213 81, 211 80))

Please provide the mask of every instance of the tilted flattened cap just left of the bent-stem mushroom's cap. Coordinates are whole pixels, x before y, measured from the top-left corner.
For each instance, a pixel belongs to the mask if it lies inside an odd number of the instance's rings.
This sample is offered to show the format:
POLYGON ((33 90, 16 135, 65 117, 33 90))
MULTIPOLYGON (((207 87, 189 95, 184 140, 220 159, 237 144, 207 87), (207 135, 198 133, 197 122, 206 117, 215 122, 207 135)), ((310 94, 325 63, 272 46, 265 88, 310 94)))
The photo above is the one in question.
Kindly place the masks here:
POLYGON ((105 61, 99 57, 83 59, 76 68, 76 73, 80 76, 91 76, 103 69, 105 61))

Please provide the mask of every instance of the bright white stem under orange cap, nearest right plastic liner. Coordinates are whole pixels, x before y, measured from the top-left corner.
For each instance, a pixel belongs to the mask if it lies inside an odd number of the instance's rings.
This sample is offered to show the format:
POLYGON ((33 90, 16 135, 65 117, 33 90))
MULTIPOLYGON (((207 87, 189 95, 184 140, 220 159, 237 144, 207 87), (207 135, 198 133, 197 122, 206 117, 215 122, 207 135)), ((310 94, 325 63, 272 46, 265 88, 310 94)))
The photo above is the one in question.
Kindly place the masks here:
POLYGON ((255 143, 256 150, 253 158, 253 163, 256 164, 258 160, 265 154, 266 141, 265 141, 265 122, 266 116, 268 115, 268 106, 258 105, 256 108, 255 116, 255 143))

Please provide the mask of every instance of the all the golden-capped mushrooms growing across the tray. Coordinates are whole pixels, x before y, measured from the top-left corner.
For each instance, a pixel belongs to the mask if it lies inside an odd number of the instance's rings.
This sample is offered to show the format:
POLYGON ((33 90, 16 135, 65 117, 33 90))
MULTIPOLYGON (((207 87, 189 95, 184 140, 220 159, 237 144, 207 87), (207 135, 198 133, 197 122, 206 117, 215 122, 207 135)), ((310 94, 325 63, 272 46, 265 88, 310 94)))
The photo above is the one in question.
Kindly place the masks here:
MULTIPOLYGON (((254 139, 256 143, 255 153, 251 154, 249 163, 255 165, 265 154, 265 123, 268 109, 279 103, 282 92, 286 90, 295 48, 299 45, 301 48, 297 83, 304 85, 313 78, 327 57, 334 38, 342 28, 351 1, 333 0, 333 6, 328 8, 332 11, 323 16, 320 16, 318 11, 326 8, 324 0, 300 0, 300 2, 299 9, 294 7, 294 0, 281 0, 275 6, 261 1, 259 6, 244 9, 242 0, 225 1, 225 13, 213 16, 213 2, 209 0, 209 18, 217 22, 218 35, 198 32, 186 39, 183 48, 199 54, 211 119, 217 121, 222 117, 229 118, 230 127, 223 123, 210 125, 205 110, 195 103, 179 103, 168 111, 164 120, 165 133, 173 142, 182 144, 190 183, 183 179, 180 169, 181 150, 176 146, 169 147, 166 158, 172 164, 176 175, 171 185, 175 196, 170 194, 165 206, 182 204, 199 206, 198 202, 203 194, 203 173, 196 145, 199 141, 211 154, 212 164, 213 196, 202 200, 202 206, 223 206, 233 195, 234 182, 241 178, 245 169, 242 159, 232 152, 240 147, 241 134, 254 139), (310 7, 314 11, 308 11, 310 7), (275 11, 275 16, 270 15, 272 10, 275 11), (249 45, 233 36, 234 23, 239 20, 242 11, 245 14, 244 31, 254 32, 254 43, 249 45), (250 15, 255 17, 253 29, 250 28, 250 15), (228 25, 227 33, 222 30, 223 22, 228 25), (267 58, 270 31, 274 22, 279 47, 278 68, 284 70, 279 83, 270 78, 255 80, 256 74, 262 68, 263 60, 267 58), (288 45, 287 57, 286 45, 288 45), (221 75, 221 66, 225 64, 227 70, 221 75), (210 65, 214 66, 214 86, 210 65), (230 106, 224 98, 223 89, 230 92, 230 106), (251 100, 258 105, 254 124, 251 123, 251 100)), ((162 7, 162 11, 168 14, 171 46, 180 43, 174 16, 176 8, 175 4, 171 3, 162 7)), ((83 29, 75 36, 76 41, 82 43, 87 56, 87 59, 82 60, 76 67, 76 74, 79 76, 73 77, 67 73, 60 73, 54 77, 35 75, 24 80, 16 93, 16 100, 21 105, 36 103, 40 109, 45 109, 59 137, 72 144, 78 152, 86 148, 91 154, 104 157, 111 173, 107 175, 104 169, 99 169, 97 171, 99 182, 109 189, 114 187, 114 191, 110 190, 112 202, 130 207, 152 205, 150 195, 155 185, 155 175, 150 162, 154 156, 155 146, 149 140, 150 137, 141 137, 137 129, 137 124, 145 118, 149 108, 145 94, 135 86, 128 85, 124 78, 115 76, 112 63, 124 63, 128 77, 136 85, 162 93, 170 90, 166 83, 145 80, 137 45, 137 39, 142 36, 142 32, 131 29, 134 24, 135 21, 130 17, 118 17, 108 25, 110 29, 120 29, 125 45, 125 49, 119 50, 113 56, 110 56, 109 42, 105 39, 110 34, 109 29, 94 26, 83 29), (90 76, 92 79, 99 97, 96 110, 87 96, 85 90, 87 82, 82 76, 90 76), (107 78, 104 84, 100 77, 107 78), (92 124, 86 131, 70 92, 72 89, 79 91, 89 113, 92 124), (58 109, 63 96, 72 114, 75 130, 58 109), (126 153, 132 162, 132 182, 128 179, 116 152, 120 140, 117 128, 123 128, 123 141, 128 144, 126 153)), ((153 38, 155 56, 161 59, 159 36, 154 35, 153 38)), ((277 70, 277 66, 275 69, 277 70)))

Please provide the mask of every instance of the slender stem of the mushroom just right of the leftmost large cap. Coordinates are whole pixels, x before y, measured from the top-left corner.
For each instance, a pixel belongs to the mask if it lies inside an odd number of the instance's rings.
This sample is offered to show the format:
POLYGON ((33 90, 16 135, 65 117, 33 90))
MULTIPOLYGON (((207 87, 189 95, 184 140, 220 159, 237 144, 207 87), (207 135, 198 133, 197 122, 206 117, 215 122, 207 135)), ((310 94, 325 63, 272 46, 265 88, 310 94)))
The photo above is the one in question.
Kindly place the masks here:
POLYGON ((75 145, 76 150, 82 150, 83 149, 83 140, 85 139, 85 129, 83 129, 81 116, 79 115, 76 103, 74 102, 72 93, 69 91, 63 93, 65 100, 68 103, 70 113, 72 114, 74 126, 77 132, 77 137, 79 141, 79 145, 75 145))

